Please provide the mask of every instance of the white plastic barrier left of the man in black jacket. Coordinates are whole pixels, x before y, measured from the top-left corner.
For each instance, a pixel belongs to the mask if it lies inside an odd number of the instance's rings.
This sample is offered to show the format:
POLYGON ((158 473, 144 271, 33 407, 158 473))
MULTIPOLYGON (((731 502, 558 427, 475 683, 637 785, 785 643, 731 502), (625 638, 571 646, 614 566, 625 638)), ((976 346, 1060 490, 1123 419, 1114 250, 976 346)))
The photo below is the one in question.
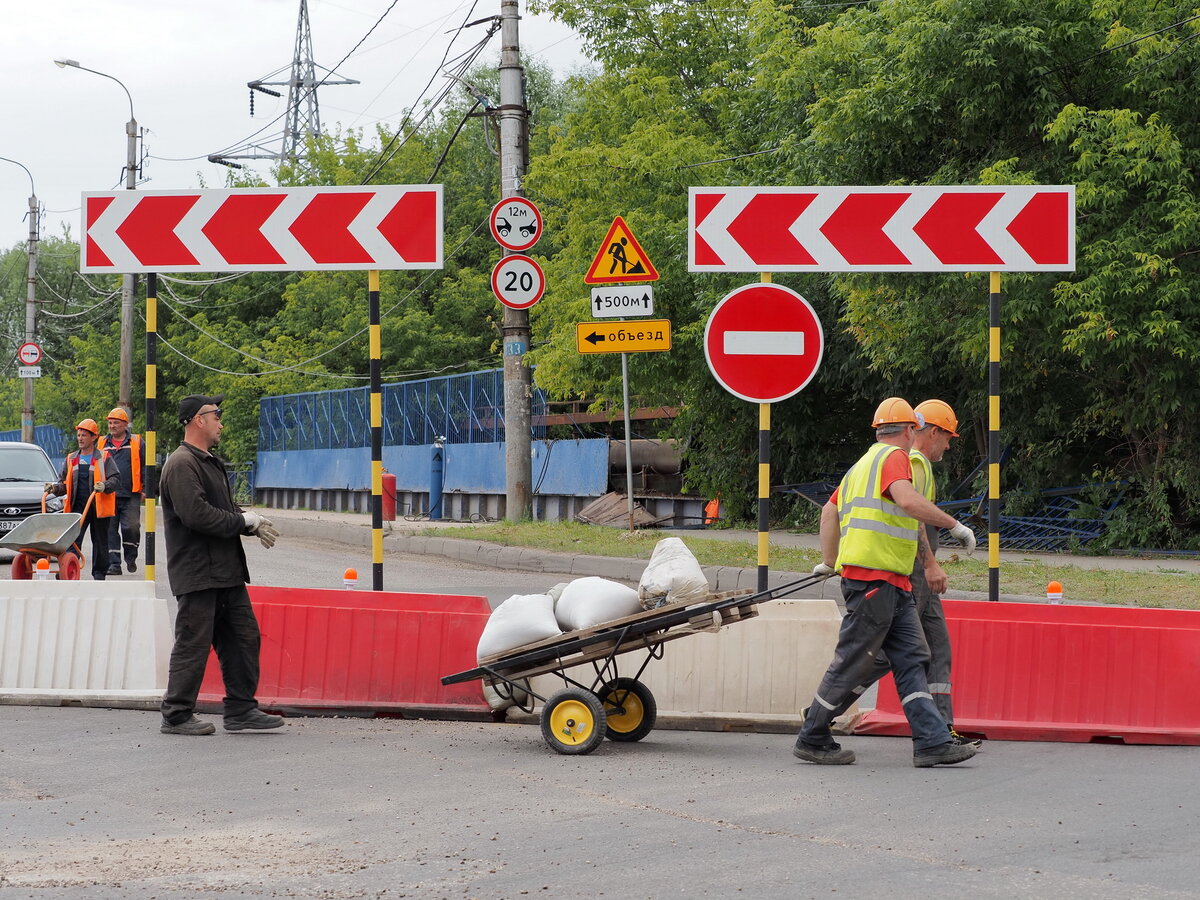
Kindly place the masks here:
POLYGON ((167 601, 146 581, 0 581, 0 702, 157 707, 167 601))

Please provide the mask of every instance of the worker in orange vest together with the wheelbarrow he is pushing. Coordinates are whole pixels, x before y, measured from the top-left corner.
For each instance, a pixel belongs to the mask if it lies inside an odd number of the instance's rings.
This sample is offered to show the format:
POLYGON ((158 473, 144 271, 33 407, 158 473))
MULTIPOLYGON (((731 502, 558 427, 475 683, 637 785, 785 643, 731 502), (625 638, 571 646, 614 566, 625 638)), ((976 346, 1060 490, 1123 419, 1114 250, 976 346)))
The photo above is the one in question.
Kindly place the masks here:
POLYGON ((67 454, 59 481, 46 485, 42 514, 30 516, 10 532, 0 546, 16 550, 13 578, 31 578, 40 559, 50 560, 60 581, 78 581, 84 563, 83 532, 91 533, 91 576, 108 574, 108 538, 116 512, 116 463, 97 449, 100 426, 84 419, 76 426, 79 449, 67 454), (46 512, 49 494, 65 496, 62 512, 46 512))

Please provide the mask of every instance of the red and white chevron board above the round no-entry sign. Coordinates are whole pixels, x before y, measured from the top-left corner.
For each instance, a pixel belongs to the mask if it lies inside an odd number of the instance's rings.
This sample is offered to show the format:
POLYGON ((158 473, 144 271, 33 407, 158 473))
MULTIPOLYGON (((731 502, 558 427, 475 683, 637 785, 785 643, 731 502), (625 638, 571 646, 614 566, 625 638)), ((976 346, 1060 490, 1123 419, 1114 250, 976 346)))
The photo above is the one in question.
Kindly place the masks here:
POLYGON ((691 187, 694 272, 1074 271, 1074 185, 691 187))

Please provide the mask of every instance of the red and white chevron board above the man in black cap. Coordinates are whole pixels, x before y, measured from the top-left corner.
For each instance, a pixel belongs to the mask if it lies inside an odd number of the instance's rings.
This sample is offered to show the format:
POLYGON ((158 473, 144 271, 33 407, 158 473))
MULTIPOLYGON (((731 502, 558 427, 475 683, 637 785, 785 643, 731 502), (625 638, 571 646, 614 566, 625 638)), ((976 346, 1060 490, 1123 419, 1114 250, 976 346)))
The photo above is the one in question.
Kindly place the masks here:
POLYGON ((84 193, 82 272, 440 269, 442 185, 84 193))

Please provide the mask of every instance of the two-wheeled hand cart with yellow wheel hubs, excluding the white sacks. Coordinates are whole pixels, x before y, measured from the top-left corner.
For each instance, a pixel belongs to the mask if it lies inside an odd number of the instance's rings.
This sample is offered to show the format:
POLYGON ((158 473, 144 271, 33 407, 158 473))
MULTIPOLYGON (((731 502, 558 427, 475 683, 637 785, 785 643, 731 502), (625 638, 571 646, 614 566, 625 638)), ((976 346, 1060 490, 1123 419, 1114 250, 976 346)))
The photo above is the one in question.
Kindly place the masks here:
POLYGON ((590 754, 606 737, 641 740, 654 728, 658 706, 649 688, 638 679, 652 659, 662 658, 662 644, 752 619, 758 614, 758 604, 816 584, 824 577, 809 575, 758 593, 745 589, 712 594, 700 602, 660 606, 568 631, 485 656, 476 668, 445 676, 442 684, 488 680, 500 696, 511 698, 527 713, 534 710, 534 700, 541 701, 541 736, 560 754, 590 754), (635 650, 644 652, 646 659, 632 677, 622 676, 617 656, 635 650), (566 673, 588 662, 594 672, 589 684, 566 673), (564 686, 542 697, 530 689, 528 679, 546 673, 558 674, 564 686))

